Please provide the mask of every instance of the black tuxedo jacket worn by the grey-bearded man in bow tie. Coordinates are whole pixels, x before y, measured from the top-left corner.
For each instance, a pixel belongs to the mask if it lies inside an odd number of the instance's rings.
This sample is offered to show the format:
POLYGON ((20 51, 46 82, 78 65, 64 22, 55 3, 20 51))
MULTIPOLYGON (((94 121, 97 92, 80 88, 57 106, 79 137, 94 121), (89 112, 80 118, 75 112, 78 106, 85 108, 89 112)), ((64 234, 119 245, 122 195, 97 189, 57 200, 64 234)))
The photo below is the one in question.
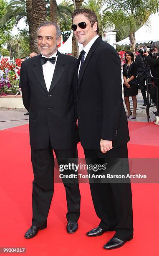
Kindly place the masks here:
POLYGON ((35 149, 69 149, 76 145, 73 77, 77 60, 58 53, 48 92, 40 63, 41 54, 21 65, 23 104, 29 111, 30 145, 35 149))

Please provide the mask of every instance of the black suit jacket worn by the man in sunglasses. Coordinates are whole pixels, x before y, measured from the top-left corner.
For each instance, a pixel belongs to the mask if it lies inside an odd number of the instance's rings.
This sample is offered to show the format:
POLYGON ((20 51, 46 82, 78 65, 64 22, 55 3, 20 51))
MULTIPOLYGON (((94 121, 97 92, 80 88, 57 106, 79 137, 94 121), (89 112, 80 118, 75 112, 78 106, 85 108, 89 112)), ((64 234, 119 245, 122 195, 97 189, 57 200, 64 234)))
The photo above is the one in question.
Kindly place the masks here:
MULTIPOLYGON (((78 66, 81 55, 78 59, 78 66)), ((76 69, 76 78, 78 67, 76 69)), ((100 140, 117 148, 129 141, 122 100, 121 61, 101 38, 91 46, 77 82, 78 141, 86 149, 100 149, 100 140)))

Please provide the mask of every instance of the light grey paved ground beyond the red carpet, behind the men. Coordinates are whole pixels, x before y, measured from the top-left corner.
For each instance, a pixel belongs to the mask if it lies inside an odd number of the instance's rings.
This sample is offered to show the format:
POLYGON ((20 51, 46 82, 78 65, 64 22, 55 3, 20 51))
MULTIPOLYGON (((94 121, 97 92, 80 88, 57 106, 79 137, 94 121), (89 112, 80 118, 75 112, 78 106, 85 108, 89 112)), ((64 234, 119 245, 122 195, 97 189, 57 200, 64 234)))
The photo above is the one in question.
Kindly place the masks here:
MULTIPOLYGON (((137 117, 134 120, 131 120, 129 118, 129 121, 131 122, 147 122, 147 115, 146 115, 146 107, 143 107, 143 99, 141 92, 138 92, 137 96, 138 100, 138 106, 137 106, 137 117)), ((131 102, 131 110, 133 109, 132 100, 130 98, 131 102)), ((125 103, 124 103, 125 107, 125 103)), ((156 111, 155 107, 150 107, 150 115, 153 111, 156 111)), ((27 112, 25 109, 6 109, 6 108, 0 108, 0 130, 15 127, 18 125, 24 125, 28 123, 28 115, 24 115, 27 112)))

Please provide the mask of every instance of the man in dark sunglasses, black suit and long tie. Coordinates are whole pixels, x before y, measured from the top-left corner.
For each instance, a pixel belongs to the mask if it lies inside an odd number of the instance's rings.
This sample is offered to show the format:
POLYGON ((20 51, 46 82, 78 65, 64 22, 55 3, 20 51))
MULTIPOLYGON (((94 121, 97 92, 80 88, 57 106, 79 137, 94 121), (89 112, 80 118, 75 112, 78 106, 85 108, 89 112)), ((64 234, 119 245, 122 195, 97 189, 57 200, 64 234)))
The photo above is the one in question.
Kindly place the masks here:
MULTIPOLYGON (((77 9, 72 19, 74 35, 83 44, 76 78, 78 141, 83 146, 86 162, 127 160, 129 130, 122 101, 121 61, 115 49, 98 36, 98 21, 92 10, 77 9)), ((129 165, 127 168, 129 172, 129 165)), ((115 230, 104 248, 123 246, 133 238, 130 183, 92 182, 90 188, 101 222, 87 236, 115 230)))

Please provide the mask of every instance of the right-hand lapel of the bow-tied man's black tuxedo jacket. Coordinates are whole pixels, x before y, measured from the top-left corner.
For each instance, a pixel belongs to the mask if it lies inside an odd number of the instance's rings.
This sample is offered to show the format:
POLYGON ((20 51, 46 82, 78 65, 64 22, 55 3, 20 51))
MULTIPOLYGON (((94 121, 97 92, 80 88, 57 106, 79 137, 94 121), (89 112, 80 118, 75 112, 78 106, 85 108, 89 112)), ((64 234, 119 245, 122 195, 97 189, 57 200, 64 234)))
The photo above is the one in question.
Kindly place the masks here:
POLYGON ((53 73, 53 79, 51 81, 51 85, 50 85, 50 89, 49 92, 51 90, 53 90, 53 87, 56 86, 56 84, 58 83, 58 81, 61 79, 65 69, 63 67, 65 63, 63 63, 63 58, 62 58, 62 54, 58 52, 58 59, 56 61, 56 67, 53 73))

